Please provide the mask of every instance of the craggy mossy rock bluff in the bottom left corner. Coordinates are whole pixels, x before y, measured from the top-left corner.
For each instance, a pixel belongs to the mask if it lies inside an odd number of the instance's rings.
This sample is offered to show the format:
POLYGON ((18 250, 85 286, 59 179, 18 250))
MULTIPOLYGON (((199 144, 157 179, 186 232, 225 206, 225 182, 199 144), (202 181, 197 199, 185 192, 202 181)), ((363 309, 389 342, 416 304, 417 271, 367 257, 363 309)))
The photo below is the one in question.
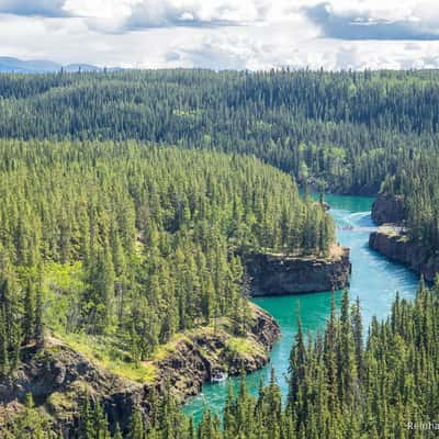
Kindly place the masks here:
MULTIPOLYGON (((148 410, 150 389, 98 368, 81 353, 50 339, 44 350, 27 349, 16 373, 0 382, 3 408, 20 408, 26 393, 49 415, 54 426, 69 437, 78 406, 87 394, 103 405, 112 423, 125 427, 133 406, 148 410)), ((0 428, 1 430, 1 428, 0 428)))

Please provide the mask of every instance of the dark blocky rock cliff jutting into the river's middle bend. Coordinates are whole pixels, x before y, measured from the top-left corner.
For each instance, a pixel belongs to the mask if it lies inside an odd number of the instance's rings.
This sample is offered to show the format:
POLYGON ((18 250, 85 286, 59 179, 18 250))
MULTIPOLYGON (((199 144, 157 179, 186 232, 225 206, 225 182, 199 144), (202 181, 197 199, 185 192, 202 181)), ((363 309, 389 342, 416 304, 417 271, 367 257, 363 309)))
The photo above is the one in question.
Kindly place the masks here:
POLYGON ((329 258, 252 255, 246 260, 251 294, 282 295, 340 290, 349 284, 349 249, 329 258))

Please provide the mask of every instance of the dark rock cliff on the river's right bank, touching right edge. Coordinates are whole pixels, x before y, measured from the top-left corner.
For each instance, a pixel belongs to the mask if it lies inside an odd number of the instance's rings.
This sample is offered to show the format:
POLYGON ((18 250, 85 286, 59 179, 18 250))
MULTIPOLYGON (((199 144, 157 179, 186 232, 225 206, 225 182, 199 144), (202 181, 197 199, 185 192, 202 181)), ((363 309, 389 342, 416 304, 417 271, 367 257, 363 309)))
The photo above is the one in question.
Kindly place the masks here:
POLYGON ((410 241, 408 236, 381 227, 369 236, 369 246, 389 259, 406 264, 428 281, 434 281, 439 271, 439 257, 429 256, 426 250, 410 241))

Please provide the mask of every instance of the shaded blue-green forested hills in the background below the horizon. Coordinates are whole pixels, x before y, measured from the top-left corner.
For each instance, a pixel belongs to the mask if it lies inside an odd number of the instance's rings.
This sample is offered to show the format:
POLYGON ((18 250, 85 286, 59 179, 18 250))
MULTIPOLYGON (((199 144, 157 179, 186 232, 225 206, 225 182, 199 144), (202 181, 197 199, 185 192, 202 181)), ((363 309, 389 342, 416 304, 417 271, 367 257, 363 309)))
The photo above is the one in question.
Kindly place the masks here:
POLYGON ((0 77, 0 136, 135 138, 251 153, 374 194, 438 147, 437 71, 157 70, 0 77))

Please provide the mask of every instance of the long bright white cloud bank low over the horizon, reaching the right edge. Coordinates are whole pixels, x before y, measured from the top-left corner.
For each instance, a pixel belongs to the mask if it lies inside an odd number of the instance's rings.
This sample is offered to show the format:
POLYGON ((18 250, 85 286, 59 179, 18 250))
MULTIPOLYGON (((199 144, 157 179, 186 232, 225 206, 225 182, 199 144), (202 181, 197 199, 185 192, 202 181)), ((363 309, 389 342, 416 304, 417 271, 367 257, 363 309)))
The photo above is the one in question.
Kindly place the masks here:
POLYGON ((398 41, 345 42, 305 38, 299 44, 258 35, 211 35, 184 48, 172 47, 166 58, 184 67, 260 70, 290 67, 329 70, 438 68, 436 43, 398 41))

